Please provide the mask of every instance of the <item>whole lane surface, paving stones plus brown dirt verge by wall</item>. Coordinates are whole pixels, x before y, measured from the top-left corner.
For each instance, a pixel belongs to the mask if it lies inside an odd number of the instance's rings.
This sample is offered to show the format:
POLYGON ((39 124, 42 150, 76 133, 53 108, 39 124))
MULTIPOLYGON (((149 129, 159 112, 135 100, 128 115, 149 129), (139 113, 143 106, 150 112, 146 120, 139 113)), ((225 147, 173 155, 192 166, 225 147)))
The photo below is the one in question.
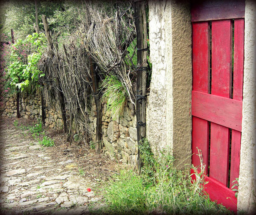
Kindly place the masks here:
POLYGON ((50 128, 38 138, 48 136, 55 146, 42 147, 20 128, 33 123, 0 118, 0 212, 85 214, 104 206, 100 190, 121 165, 50 128))

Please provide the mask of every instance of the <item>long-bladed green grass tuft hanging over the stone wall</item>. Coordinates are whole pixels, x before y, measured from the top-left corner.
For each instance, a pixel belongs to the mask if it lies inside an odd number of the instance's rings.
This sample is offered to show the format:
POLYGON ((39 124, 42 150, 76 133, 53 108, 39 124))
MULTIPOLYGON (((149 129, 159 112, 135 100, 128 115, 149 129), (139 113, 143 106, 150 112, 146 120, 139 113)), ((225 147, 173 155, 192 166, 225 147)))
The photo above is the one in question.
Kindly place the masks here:
POLYGON ((107 110, 111 111, 111 116, 115 120, 117 116, 123 113, 128 92, 122 82, 115 76, 107 76, 100 88, 106 88, 102 101, 107 102, 107 110))

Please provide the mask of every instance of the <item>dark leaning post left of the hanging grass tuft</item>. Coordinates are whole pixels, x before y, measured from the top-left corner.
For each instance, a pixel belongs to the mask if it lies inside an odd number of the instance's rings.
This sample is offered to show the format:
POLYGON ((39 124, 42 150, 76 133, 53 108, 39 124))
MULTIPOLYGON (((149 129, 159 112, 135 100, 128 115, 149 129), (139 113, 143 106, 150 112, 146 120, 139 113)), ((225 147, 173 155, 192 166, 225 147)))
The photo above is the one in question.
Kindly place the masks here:
POLYGON ((96 137, 95 137, 95 150, 96 153, 100 153, 102 150, 102 145, 100 144, 100 134, 101 134, 101 104, 99 101, 99 92, 98 92, 98 80, 96 76, 96 71, 94 63, 91 57, 90 61, 90 74, 92 76, 92 85, 93 85, 93 96, 96 105, 97 119, 96 119, 96 137))

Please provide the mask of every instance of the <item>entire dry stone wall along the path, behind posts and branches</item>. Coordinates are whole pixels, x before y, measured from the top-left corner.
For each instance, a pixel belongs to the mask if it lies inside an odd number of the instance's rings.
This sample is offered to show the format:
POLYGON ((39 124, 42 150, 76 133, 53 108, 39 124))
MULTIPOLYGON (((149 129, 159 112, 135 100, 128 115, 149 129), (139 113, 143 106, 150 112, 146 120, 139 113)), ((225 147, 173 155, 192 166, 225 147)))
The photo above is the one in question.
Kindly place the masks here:
MULTIPOLYGON (((16 95, 6 96, 3 100, 4 105, 0 107, 0 115, 16 116, 16 95)), ((91 110, 89 112, 89 129, 92 133, 93 142, 96 134, 96 105, 94 99, 90 99, 91 110)), ((58 112, 58 103, 50 108, 46 105, 45 125, 49 128, 62 128, 61 113, 58 112)), ((26 119, 41 119, 41 97, 35 95, 20 96, 20 116, 26 119)), ((107 106, 102 105, 102 144, 103 153, 113 160, 136 166, 138 158, 138 143, 136 129, 136 115, 132 105, 124 108, 122 116, 113 120, 111 112, 107 111, 107 106)))

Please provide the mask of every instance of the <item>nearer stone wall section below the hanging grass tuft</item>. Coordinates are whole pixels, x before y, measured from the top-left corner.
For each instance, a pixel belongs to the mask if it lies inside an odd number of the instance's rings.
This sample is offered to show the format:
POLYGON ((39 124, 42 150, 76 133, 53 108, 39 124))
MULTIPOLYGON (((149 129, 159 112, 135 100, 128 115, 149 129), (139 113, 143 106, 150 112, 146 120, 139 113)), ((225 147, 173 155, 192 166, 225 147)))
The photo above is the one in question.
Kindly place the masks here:
MULTIPOLYGON (((90 111, 90 130, 94 132, 93 141, 96 132, 96 106, 94 99, 90 100, 92 109, 90 111)), ((111 112, 106 104, 102 108, 102 142, 103 152, 116 161, 128 163, 136 166, 138 158, 138 143, 136 129, 136 115, 133 113, 131 104, 124 108, 122 116, 113 120, 111 112)), ((95 141, 94 141, 95 142, 95 141)))

